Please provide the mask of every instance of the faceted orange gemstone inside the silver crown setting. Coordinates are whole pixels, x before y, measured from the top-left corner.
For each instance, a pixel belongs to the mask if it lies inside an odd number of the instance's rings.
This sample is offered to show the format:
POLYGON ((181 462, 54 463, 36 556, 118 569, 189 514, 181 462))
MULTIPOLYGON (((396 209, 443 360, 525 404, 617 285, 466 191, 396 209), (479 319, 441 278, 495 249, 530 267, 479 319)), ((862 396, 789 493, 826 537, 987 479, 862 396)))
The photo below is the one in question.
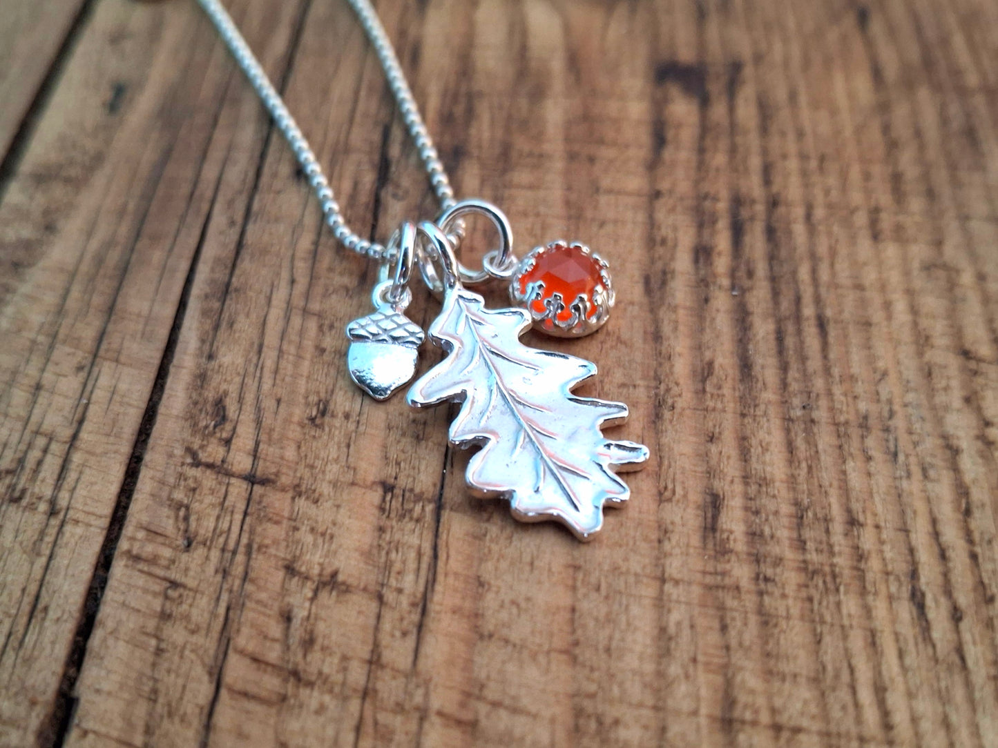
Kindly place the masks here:
POLYGON ((593 294, 603 287, 600 263, 581 246, 549 244, 537 253, 533 267, 520 275, 519 280, 521 295, 526 295, 531 283, 538 280, 544 283, 543 297, 531 302, 531 308, 538 314, 544 313, 544 302, 556 293, 565 305, 555 315, 561 322, 572 318, 569 307, 579 296, 589 300, 587 317, 595 316, 598 311, 593 294))

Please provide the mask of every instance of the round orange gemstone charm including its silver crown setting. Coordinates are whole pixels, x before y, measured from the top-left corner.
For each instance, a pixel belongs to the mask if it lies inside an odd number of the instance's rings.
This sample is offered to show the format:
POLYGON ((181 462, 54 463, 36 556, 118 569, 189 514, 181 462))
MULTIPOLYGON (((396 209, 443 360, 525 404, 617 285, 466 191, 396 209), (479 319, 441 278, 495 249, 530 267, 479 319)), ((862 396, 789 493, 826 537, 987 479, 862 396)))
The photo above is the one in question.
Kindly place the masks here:
POLYGON ((585 244, 562 239, 520 261, 509 294, 530 312, 536 329, 565 338, 596 332, 614 305, 606 260, 585 244))

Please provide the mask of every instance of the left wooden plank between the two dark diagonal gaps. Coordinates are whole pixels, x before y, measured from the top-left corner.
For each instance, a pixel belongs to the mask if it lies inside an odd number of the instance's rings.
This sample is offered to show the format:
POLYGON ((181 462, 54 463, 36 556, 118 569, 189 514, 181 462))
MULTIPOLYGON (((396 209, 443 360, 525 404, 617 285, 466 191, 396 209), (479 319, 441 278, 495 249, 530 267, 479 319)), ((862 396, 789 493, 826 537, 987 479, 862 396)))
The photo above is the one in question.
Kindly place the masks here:
POLYGON ((250 192, 223 164, 260 158, 233 78, 190 12, 101 3, 0 205, 0 744, 65 729, 207 216, 250 192))

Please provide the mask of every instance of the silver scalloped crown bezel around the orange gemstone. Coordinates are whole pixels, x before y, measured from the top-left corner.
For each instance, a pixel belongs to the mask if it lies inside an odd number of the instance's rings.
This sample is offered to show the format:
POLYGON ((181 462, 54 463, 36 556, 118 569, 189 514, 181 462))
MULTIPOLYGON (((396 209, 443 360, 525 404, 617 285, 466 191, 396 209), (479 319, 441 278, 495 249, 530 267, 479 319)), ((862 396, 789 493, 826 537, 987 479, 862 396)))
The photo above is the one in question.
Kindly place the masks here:
POLYGON ((535 329, 548 335, 563 338, 582 337, 596 332, 607 323, 615 301, 610 265, 607 261, 586 244, 578 241, 570 242, 565 239, 557 239, 531 249, 520 260, 520 264, 510 279, 509 295, 513 303, 530 312, 535 329), (523 276, 534 269, 541 253, 557 251, 559 248, 581 250, 585 256, 596 262, 600 279, 593 289, 591 298, 589 294, 580 293, 571 302, 566 303, 566 299, 561 293, 547 294, 543 280, 533 280, 527 283, 521 292, 520 286, 523 276), (543 312, 535 308, 534 305, 537 301, 544 304, 543 312), (566 310, 572 314, 570 317, 562 319, 561 315, 566 310))

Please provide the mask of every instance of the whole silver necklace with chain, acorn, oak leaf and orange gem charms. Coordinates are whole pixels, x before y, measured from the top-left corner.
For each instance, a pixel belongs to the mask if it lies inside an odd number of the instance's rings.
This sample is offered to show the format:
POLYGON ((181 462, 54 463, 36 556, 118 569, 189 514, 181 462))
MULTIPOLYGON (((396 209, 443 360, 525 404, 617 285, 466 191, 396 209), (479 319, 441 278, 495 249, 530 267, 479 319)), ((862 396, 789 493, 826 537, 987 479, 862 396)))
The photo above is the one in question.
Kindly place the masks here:
POLYGON ((564 240, 517 259, 509 220, 498 207, 455 199, 376 11, 369 0, 346 0, 374 46, 441 208, 433 220, 402 223, 384 244, 359 236, 232 17, 220 0, 198 2, 294 152, 333 235, 347 249, 379 262, 371 292, 374 311, 346 328, 350 377, 367 395, 386 400, 415 376, 425 336, 404 312, 412 299, 412 270, 418 268, 442 302, 427 332, 446 357, 411 386, 407 402, 415 408, 461 404, 449 438, 457 447, 479 448, 465 471, 475 494, 507 500, 518 520, 555 520, 579 540, 592 539, 603 526, 603 507, 630 496, 617 473, 641 467, 648 449, 603 435, 604 427, 627 418, 626 405, 572 394, 596 375, 595 364, 529 348, 519 338, 532 324, 561 337, 586 335, 605 324, 615 300, 607 262, 586 245, 564 240), (498 247, 483 255, 479 270, 456 256, 464 219, 472 214, 489 218, 499 234, 498 247), (490 281, 507 284, 517 306, 488 309, 481 295, 468 290, 490 281))

